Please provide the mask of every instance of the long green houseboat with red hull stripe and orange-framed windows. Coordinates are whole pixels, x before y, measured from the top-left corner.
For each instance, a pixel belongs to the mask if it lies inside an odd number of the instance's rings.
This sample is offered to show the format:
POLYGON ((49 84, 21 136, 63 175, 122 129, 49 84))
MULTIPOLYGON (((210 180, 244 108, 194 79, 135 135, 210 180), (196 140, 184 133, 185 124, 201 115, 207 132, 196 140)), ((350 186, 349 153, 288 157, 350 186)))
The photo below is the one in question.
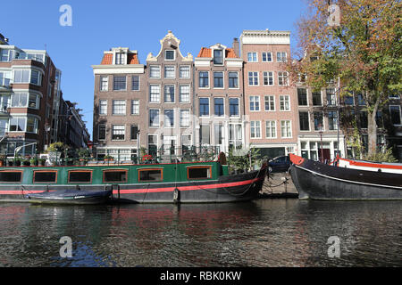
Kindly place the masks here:
POLYGON ((0 167, 0 199, 26 199, 32 193, 68 189, 83 192, 112 189, 113 198, 140 203, 254 199, 264 183, 266 164, 259 170, 229 175, 224 160, 0 167))

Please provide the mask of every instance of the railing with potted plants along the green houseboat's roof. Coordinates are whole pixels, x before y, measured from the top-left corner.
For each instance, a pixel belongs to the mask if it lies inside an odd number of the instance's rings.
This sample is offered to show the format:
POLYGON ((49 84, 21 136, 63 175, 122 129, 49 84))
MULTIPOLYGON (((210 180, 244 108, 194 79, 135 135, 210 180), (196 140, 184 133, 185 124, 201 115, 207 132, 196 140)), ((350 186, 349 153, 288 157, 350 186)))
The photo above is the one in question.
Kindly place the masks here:
POLYGON ((218 158, 220 147, 211 145, 172 147, 162 145, 160 148, 141 148, 139 153, 124 150, 97 152, 96 155, 76 156, 74 151, 58 151, 26 157, 8 157, 0 159, 0 167, 23 166, 124 166, 138 164, 163 164, 191 161, 211 161, 218 158))

